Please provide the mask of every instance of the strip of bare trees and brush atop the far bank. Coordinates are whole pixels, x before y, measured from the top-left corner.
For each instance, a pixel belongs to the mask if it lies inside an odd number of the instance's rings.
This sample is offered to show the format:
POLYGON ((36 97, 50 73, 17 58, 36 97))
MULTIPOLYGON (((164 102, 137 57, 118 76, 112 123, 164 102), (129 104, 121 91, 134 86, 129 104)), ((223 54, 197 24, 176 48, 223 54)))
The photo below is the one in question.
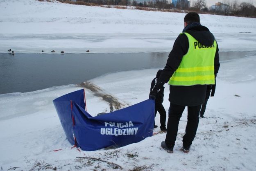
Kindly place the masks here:
POLYGON ((150 0, 150 1, 137 1, 137 0, 78 0, 71 2, 70 0, 59 0, 60 2, 81 5, 105 5, 105 6, 134 6, 136 9, 144 10, 163 10, 170 11, 197 11, 204 14, 217 14, 226 16, 241 16, 256 18, 256 7, 251 2, 241 2, 238 0, 222 0, 215 6, 207 7, 206 0, 195 0, 190 6, 187 5, 186 0, 180 0, 177 6, 167 0, 150 0), (140 8, 141 7, 141 8, 140 8))

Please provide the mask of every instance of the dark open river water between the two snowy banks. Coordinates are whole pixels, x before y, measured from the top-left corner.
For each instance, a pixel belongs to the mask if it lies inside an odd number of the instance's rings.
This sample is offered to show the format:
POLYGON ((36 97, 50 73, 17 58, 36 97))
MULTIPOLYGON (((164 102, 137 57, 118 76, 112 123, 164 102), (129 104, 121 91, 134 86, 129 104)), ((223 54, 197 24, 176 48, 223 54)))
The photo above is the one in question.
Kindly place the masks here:
MULTIPOLYGON (((106 73, 163 68, 169 52, 121 54, 0 53, 0 94, 78 84, 106 73)), ((256 52, 220 52, 220 61, 256 52)))

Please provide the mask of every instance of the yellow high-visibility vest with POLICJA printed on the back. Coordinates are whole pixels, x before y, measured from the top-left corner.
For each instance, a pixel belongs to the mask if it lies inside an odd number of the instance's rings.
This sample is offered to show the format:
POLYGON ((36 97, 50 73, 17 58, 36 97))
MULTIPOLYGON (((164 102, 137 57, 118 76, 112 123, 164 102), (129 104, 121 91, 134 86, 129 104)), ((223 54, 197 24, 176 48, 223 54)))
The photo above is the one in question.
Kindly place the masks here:
POLYGON ((185 86, 215 84, 216 41, 211 46, 204 46, 190 34, 184 34, 188 37, 188 52, 183 56, 179 67, 172 74, 169 84, 185 86))

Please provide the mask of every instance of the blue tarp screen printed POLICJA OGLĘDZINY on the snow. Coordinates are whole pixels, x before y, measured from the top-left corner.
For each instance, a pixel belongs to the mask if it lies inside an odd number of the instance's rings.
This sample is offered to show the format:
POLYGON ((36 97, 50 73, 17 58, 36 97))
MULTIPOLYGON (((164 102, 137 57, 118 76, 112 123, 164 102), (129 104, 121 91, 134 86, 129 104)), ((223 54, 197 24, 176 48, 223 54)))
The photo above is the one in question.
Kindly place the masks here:
POLYGON ((92 117, 84 110, 84 89, 54 99, 61 125, 72 145, 94 151, 125 146, 152 136, 155 102, 148 99, 105 115, 92 117))

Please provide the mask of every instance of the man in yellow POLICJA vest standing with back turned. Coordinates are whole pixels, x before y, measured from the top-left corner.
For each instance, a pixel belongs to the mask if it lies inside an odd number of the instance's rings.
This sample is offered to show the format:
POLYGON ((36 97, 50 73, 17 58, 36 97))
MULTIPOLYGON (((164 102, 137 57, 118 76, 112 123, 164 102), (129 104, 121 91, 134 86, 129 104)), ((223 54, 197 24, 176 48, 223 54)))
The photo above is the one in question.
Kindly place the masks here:
MULTIPOLYGON (((207 85, 215 84, 219 70, 218 45, 207 27, 200 24, 199 15, 189 12, 184 17, 184 29, 177 37, 159 77, 159 85, 170 85, 170 108, 167 134, 161 147, 169 153, 177 137, 179 119, 188 107, 188 121, 183 137, 183 151, 189 152, 199 123, 199 112, 206 97, 207 85)), ((157 88, 157 86, 156 86, 157 88)), ((154 96, 157 91, 153 90, 154 96)))

